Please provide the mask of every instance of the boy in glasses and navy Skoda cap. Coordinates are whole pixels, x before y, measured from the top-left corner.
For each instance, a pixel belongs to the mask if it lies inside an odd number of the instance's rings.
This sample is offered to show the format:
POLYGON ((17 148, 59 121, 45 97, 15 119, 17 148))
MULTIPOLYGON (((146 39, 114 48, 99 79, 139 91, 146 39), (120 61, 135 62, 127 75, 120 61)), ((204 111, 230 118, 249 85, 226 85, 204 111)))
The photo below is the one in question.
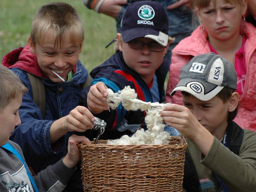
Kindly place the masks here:
MULTIPOLYGON (((129 85, 140 100, 164 101, 164 80, 170 65, 164 54, 173 40, 167 34, 168 18, 161 4, 138 1, 126 9, 121 33, 117 33, 118 50, 92 70, 94 85, 81 94, 81 105, 87 107, 88 103, 90 111, 107 122, 101 139, 116 139, 124 134, 131 135, 139 127, 146 128, 145 113, 140 110, 126 111, 122 105, 108 110, 104 103, 108 95, 106 87, 118 92, 129 85)), ((168 131, 178 134, 173 128, 168 127, 168 131)))

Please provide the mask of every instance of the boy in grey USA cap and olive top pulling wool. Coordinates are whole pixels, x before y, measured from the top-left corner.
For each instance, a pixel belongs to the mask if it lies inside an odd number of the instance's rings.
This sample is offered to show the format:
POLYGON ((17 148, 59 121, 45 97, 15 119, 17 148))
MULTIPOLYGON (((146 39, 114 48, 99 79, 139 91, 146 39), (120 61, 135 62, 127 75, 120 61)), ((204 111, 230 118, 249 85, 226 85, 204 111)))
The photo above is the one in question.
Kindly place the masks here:
POLYGON ((183 187, 187 191, 255 191, 256 132, 232 120, 237 113, 236 71, 220 55, 191 59, 173 89, 184 106, 170 104, 161 112, 166 124, 188 142, 183 187))

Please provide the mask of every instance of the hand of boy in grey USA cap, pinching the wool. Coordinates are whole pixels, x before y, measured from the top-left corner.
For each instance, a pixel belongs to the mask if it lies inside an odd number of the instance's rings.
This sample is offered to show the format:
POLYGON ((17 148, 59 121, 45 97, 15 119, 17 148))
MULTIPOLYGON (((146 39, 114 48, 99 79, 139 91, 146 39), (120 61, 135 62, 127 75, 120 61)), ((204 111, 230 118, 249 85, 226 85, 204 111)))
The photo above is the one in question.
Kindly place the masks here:
POLYGON ((181 105, 167 105, 161 112, 161 116, 166 124, 176 128, 190 139, 195 138, 200 129, 204 129, 190 110, 181 105))

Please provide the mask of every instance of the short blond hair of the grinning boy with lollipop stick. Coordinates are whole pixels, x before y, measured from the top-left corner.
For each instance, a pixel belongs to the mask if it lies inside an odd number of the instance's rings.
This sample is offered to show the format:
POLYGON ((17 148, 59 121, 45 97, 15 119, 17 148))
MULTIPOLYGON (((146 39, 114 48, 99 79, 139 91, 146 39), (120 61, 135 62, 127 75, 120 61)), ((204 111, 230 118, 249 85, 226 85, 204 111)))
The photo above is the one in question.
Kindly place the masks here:
POLYGON ((72 45, 82 44, 84 41, 83 23, 76 10, 66 3, 49 3, 41 6, 32 21, 31 42, 43 44, 47 32, 52 32, 55 46, 62 42, 66 32, 69 32, 72 45))

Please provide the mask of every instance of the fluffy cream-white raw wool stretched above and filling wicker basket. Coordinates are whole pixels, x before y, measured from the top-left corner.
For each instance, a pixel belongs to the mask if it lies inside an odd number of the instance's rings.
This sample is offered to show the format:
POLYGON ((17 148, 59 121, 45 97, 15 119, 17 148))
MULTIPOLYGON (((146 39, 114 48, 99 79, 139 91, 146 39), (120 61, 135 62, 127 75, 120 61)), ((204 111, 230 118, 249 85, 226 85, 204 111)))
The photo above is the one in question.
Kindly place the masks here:
POLYGON ((140 109, 145 111, 147 116, 145 117, 145 123, 148 130, 137 130, 132 137, 124 135, 120 139, 108 141, 110 145, 140 145, 140 144, 168 144, 170 134, 164 132, 163 118, 160 112, 164 110, 164 106, 167 104, 160 104, 158 102, 144 102, 137 99, 137 93, 130 86, 126 86, 123 90, 114 93, 111 89, 108 89, 108 97, 106 103, 111 109, 116 109, 117 106, 122 103, 124 108, 129 111, 136 111, 140 109))

